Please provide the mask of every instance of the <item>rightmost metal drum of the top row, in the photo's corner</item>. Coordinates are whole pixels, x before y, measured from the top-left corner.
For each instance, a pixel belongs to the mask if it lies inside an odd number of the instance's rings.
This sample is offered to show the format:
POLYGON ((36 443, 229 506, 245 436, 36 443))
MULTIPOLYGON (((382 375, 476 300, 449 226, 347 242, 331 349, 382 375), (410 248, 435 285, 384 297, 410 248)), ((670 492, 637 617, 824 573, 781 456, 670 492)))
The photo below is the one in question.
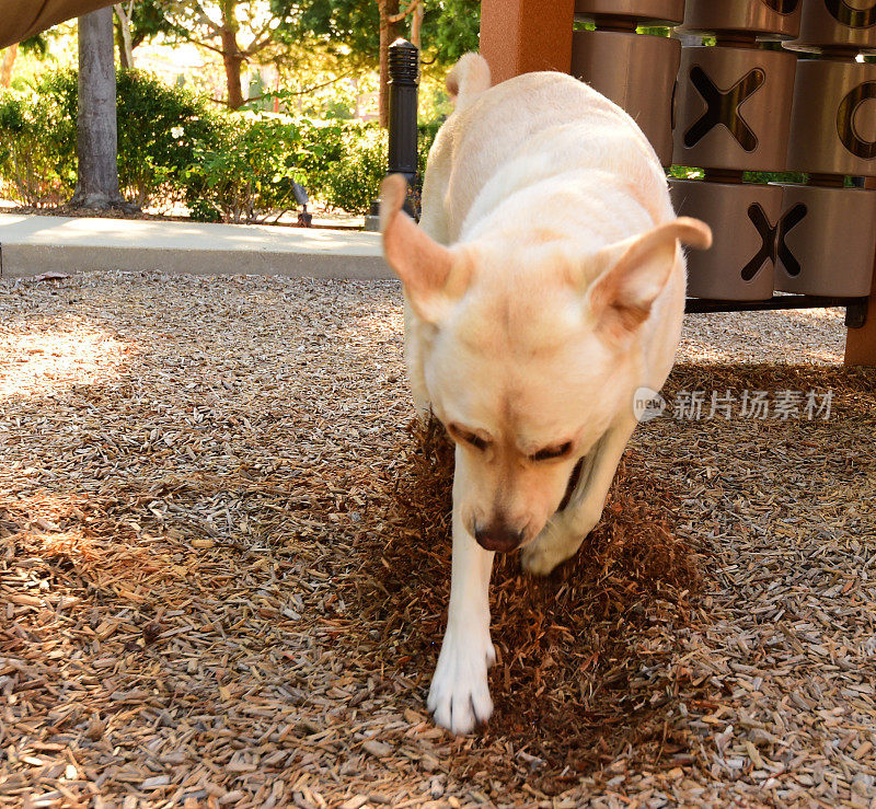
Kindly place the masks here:
POLYGON ((850 55, 876 51, 876 2, 803 0, 799 36, 786 47, 850 55))

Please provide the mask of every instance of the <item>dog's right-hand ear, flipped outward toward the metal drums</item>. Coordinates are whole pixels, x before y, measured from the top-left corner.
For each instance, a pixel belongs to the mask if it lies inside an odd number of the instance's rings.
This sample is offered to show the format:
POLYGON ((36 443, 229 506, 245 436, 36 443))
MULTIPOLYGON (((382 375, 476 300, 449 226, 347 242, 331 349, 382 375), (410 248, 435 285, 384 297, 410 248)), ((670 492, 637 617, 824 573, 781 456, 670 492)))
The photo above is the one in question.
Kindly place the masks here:
POLYGON ((596 261, 608 269, 588 294, 598 328, 616 336, 634 331, 647 319, 669 280, 679 242, 707 250, 712 230, 699 219, 679 217, 600 251, 596 261))

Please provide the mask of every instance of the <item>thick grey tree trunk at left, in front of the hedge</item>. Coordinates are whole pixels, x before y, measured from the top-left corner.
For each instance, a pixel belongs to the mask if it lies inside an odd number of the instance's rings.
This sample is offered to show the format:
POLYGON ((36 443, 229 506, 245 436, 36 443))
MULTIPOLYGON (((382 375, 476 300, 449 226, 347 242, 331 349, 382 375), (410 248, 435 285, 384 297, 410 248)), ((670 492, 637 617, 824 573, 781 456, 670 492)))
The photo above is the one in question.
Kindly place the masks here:
POLYGON ((124 204, 118 192, 116 68, 113 10, 79 18, 79 175, 71 205, 110 208, 124 204))

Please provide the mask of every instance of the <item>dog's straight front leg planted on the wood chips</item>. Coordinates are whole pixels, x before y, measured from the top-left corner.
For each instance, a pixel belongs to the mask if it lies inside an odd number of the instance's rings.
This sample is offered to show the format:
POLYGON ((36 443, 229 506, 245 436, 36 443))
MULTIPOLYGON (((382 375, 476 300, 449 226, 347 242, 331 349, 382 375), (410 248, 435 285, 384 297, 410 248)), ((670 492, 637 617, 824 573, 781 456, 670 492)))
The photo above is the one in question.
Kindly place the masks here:
POLYGON ((494 553, 481 547, 463 525, 459 494, 465 482, 457 461, 450 606, 428 707, 438 725, 454 733, 468 733, 493 713, 486 671, 496 659, 489 638, 489 574, 494 553))

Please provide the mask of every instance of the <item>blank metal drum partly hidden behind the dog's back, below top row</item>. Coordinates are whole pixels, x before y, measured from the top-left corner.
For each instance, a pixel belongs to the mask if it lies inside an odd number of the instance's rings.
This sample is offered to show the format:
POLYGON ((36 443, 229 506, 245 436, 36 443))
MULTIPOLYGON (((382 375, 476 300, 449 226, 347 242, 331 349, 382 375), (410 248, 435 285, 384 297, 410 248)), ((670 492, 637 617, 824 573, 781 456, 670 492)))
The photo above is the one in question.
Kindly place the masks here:
POLYGON ((572 74, 625 109, 664 165, 672 162, 672 94, 681 43, 664 36, 576 31, 572 74))

